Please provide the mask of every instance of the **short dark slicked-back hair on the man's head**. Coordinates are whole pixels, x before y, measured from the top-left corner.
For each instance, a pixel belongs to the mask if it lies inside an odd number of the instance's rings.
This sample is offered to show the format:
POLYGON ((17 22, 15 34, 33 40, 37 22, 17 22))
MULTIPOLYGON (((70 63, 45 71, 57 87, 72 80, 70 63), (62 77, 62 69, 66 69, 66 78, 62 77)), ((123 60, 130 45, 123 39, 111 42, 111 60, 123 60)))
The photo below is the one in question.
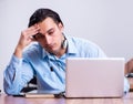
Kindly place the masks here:
POLYGON ((51 19, 53 19, 53 21, 57 24, 62 23, 62 25, 63 25, 63 22, 60 19, 60 15, 55 11, 53 11, 51 9, 43 9, 42 8, 42 9, 35 10, 34 13, 30 17, 28 27, 31 27, 31 25, 39 23, 39 22, 42 22, 47 18, 51 18, 51 19))

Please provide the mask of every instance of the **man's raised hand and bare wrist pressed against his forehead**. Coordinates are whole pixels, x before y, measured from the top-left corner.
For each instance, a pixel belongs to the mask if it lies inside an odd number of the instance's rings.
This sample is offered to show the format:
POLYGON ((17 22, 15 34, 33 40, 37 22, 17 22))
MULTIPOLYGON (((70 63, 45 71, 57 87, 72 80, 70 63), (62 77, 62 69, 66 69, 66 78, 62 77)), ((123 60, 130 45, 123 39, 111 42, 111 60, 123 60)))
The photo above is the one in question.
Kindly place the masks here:
POLYGON ((22 58, 22 50, 29 45, 31 42, 35 41, 32 35, 39 33, 39 25, 34 24, 21 32, 20 40, 14 51, 14 55, 18 58, 22 58))

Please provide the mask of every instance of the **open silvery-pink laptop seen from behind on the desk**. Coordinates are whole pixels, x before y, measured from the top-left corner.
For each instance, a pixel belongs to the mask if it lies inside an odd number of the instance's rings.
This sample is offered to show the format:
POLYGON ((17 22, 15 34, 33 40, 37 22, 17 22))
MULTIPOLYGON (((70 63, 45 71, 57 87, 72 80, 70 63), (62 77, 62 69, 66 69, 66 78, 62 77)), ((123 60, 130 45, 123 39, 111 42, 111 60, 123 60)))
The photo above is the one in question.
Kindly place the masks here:
POLYGON ((122 97, 123 58, 66 59, 65 97, 122 97))

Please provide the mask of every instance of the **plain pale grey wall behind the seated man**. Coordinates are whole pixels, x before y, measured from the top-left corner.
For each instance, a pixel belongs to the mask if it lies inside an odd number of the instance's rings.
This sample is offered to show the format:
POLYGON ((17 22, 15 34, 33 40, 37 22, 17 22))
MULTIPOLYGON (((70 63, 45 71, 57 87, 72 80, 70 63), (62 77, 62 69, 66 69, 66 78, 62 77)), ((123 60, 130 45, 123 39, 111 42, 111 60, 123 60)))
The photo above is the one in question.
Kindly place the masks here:
POLYGON ((0 0, 0 89, 21 30, 38 8, 61 15, 65 34, 98 43, 109 56, 133 58, 133 0, 0 0))

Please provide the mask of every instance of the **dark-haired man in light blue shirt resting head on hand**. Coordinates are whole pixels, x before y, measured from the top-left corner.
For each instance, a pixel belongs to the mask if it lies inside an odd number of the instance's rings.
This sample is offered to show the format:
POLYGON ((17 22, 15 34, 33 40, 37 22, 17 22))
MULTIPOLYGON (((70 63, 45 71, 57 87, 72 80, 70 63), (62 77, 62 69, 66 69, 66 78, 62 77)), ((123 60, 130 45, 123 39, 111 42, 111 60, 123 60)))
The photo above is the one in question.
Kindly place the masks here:
POLYGON ((7 94, 19 94, 34 75, 38 90, 47 93, 63 92, 66 58, 106 56, 96 44, 64 35, 63 28, 59 14, 50 9, 39 9, 31 15, 29 28, 21 32, 4 71, 7 94))

